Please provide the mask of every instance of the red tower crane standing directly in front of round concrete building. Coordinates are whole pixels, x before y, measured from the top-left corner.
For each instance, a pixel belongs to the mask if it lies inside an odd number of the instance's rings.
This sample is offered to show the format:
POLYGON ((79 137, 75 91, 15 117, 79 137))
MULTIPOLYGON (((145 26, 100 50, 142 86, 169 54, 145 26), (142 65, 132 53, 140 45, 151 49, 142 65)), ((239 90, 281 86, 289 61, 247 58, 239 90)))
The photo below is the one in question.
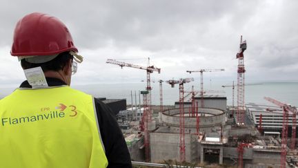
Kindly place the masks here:
POLYGON ((168 80, 166 81, 168 84, 175 86, 175 84, 179 84, 179 122, 180 122, 180 162, 184 162, 186 160, 186 151, 185 151, 185 129, 184 129, 184 108, 183 108, 183 84, 194 81, 193 78, 185 78, 180 80, 168 80))

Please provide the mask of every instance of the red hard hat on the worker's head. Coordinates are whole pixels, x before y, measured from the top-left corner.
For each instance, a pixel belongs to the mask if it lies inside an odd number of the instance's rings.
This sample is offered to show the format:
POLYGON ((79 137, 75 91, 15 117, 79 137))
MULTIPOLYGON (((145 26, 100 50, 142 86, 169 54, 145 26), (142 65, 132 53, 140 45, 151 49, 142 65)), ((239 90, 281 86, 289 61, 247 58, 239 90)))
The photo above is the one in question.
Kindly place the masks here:
POLYGON ((10 54, 56 55, 68 50, 78 52, 68 28, 56 17, 34 12, 17 23, 10 54))

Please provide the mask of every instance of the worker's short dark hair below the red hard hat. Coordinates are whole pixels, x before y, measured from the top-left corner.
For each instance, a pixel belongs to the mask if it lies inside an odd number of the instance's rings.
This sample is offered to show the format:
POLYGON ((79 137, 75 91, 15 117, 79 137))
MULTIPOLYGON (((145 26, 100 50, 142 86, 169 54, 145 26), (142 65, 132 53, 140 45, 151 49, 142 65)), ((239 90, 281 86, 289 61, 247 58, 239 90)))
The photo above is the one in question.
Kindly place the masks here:
MULTIPOLYGON (((41 56, 42 57, 42 56, 41 56)), ((33 64, 30 62, 26 62, 25 59, 21 59, 21 66, 23 69, 35 68, 41 66, 43 72, 46 71, 59 71, 66 66, 69 59, 73 59, 73 56, 70 55, 69 52, 60 53, 57 57, 50 60, 50 62, 33 64)))

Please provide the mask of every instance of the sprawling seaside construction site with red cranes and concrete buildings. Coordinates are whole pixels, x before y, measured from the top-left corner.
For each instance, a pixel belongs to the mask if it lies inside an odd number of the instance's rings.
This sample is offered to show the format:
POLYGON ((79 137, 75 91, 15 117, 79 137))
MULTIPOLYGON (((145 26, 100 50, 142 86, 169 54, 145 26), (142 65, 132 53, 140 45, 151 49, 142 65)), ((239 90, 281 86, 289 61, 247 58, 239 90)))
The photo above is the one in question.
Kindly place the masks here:
POLYGON ((200 74, 200 91, 184 90, 183 84, 194 81, 192 77, 159 80, 160 104, 152 106, 150 74, 161 69, 107 60, 121 68, 146 71, 146 90, 140 92, 142 103, 131 104, 130 109, 117 114, 133 161, 154 164, 177 160, 195 167, 298 167, 296 107, 266 95, 272 106, 244 101, 246 45, 241 37, 236 55, 237 84, 222 86, 232 88, 232 97, 228 97, 232 106, 227 106, 224 91, 203 88, 203 73, 224 69, 186 71, 200 74), (163 106, 163 82, 179 92, 179 100, 172 106, 163 106))

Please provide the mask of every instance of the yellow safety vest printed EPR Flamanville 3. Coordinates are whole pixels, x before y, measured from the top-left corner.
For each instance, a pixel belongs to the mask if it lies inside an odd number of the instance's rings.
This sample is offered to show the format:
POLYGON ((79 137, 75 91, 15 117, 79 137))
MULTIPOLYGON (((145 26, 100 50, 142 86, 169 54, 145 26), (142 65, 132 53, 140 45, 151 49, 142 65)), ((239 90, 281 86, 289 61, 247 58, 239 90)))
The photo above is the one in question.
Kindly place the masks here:
POLYGON ((69 86, 0 100, 0 167, 107 167, 93 100, 69 86))

